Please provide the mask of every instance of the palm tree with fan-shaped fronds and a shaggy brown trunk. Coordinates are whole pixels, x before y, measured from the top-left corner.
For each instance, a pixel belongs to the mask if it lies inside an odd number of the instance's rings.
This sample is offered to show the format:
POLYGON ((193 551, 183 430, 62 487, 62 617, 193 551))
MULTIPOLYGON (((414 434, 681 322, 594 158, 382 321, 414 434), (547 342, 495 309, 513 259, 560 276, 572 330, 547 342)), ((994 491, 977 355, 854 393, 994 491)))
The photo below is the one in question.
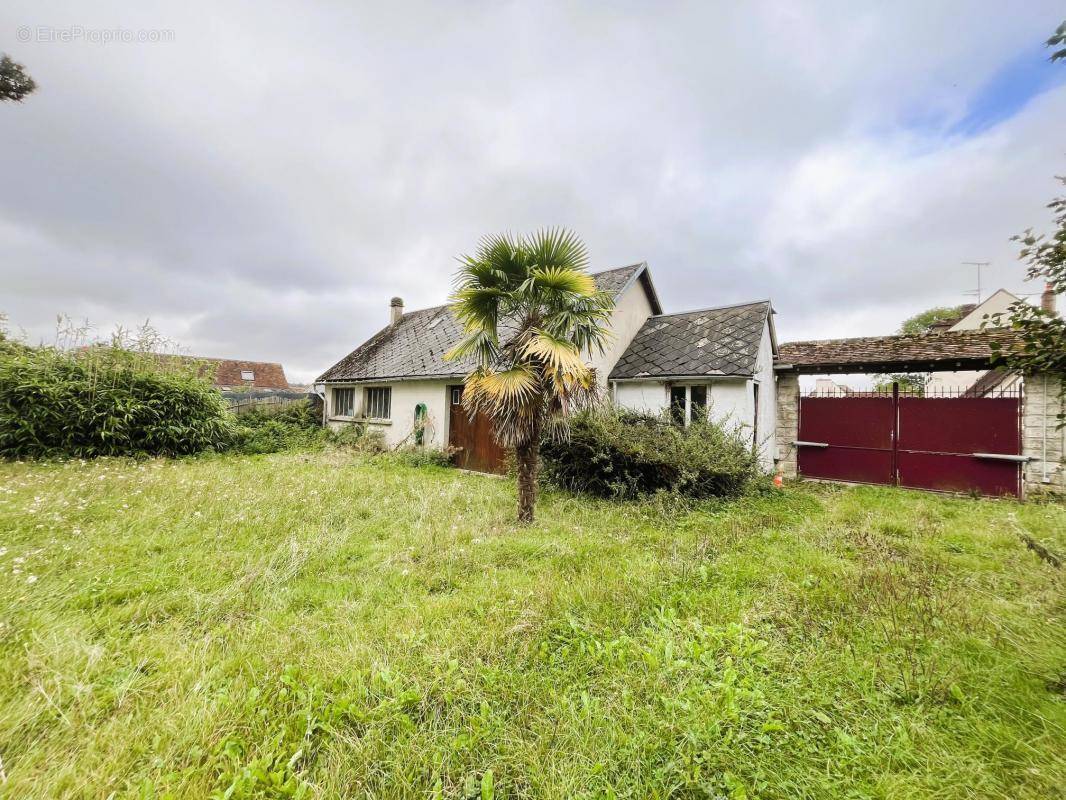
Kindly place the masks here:
POLYGON ((463 405, 514 448, 518 521, 533 521, 543 435, 567 434, 568 415, 596 398, 584 354, 603 352, 614 299, 586 272, 584 243, 565 229, 485 237, 461 256, 452 309, 464 337, 445 357, 469 359, 463 405))

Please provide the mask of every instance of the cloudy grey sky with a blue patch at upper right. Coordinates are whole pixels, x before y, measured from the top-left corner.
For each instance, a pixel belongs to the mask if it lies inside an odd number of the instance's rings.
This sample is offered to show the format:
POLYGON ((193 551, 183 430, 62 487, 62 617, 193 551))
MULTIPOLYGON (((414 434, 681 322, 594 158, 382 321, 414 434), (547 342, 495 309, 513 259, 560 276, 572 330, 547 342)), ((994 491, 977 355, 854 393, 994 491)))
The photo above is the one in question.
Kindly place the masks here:
POLYGON ((1038 291, 1010 237, 1066 173, 1061 2, 86 5, 0 6, 39 84, 0 107, 31 340, 150 318, 309 380, 545 225, 667 310, 770 297, 782 339, 965 302, 963 261, 1038 291))

